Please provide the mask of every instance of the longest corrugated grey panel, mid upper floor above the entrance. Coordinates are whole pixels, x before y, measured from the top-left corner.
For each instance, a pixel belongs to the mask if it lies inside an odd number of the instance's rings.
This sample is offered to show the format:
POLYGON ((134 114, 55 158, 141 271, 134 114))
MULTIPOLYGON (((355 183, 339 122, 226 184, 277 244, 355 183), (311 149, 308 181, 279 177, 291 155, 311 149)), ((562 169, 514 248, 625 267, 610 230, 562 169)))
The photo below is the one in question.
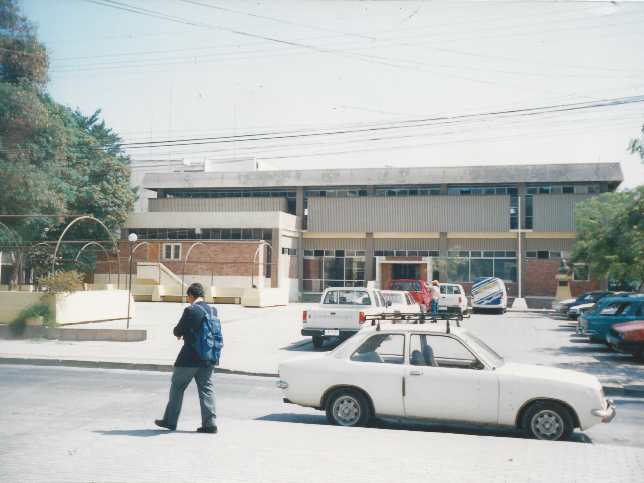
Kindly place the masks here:
POLYGON ((311 232, 498 232, 510 229, 508 194, 308 198, 311 232))

